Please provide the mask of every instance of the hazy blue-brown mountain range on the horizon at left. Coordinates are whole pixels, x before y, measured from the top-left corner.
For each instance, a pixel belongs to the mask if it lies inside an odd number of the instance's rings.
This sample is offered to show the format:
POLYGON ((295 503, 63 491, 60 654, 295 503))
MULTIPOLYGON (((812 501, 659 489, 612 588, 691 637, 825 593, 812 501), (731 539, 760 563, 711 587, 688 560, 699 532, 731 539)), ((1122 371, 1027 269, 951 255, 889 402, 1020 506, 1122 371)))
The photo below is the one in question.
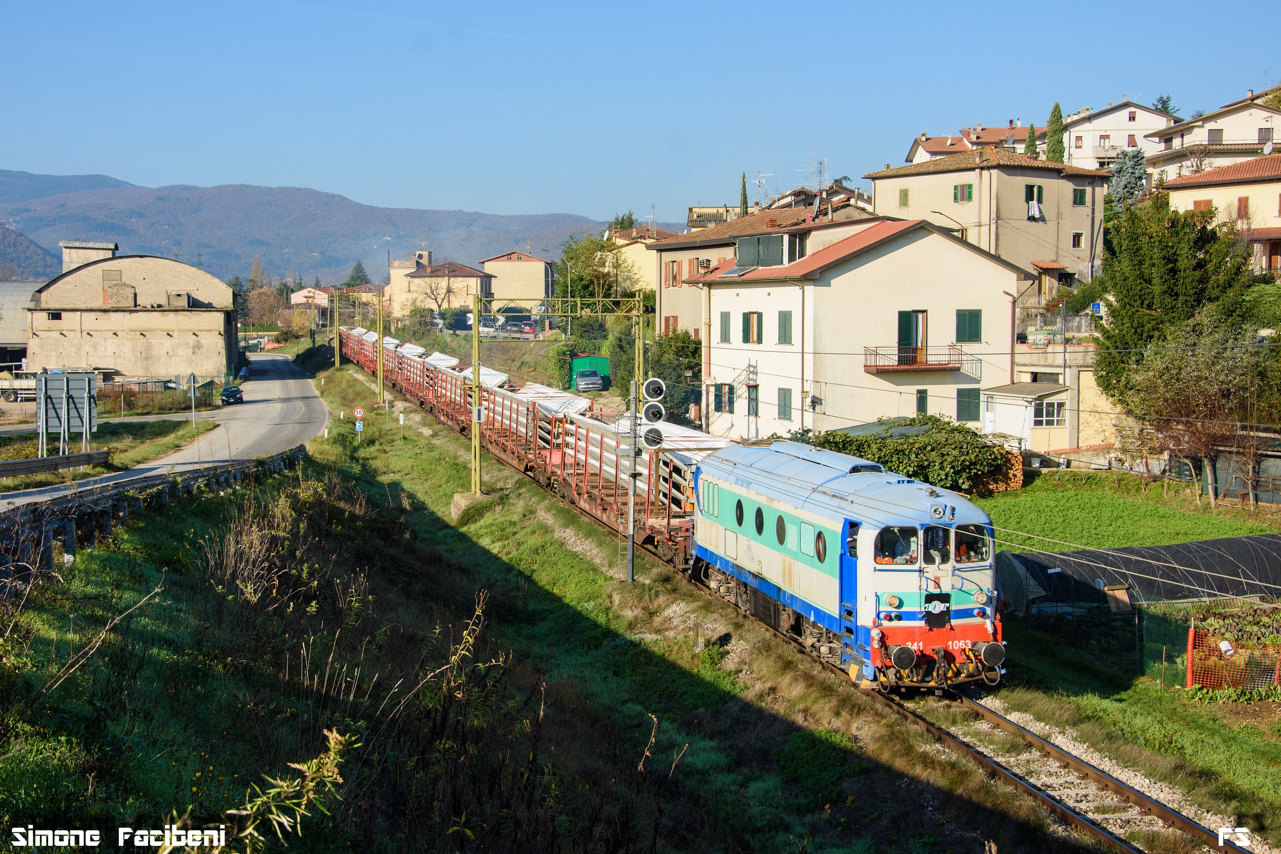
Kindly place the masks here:
POLYGON ((23 277, 56 274, 60 240, 102 240, 117 241, 122 254, 177 258, 223 280, 247 277, 254 255, 261 255, 266 273, 283 278, 292 269, 327 285, 346 278, 357 260, 378 280, 388 253, 409 258, 424 246, 434 260, 471 265, 511 249, 556 258, 569 236, 605 226, 576 214, 377 208, 306 187, 141 187, 108 176, 9 171, 0 171, 0 224, 9 226, 0 231, 0 265, 17 267, 23 277), (12 230, 20 232, 17 239, 12 230), (54 263, 18 240, 23 236, 54 263))

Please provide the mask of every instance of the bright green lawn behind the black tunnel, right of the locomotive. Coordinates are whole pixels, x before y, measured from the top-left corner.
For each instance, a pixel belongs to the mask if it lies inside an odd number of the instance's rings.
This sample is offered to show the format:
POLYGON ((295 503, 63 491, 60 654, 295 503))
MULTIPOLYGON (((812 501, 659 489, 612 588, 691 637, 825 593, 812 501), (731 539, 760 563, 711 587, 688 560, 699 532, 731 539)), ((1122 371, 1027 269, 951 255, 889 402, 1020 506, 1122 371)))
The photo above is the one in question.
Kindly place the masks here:
POLYGON ((1006 528, 997 531, 998 549, 1011 551, 1168 545, 1277 530, 1271 517, 1250 518, 1236 508, 1211 512, 1208 501, 1198 509, 1184 490, 1166 496, 1161 486, 1144 490, 1139 478, 1108 472, 1040 474, 1018 492, 975 503, 1006 528))

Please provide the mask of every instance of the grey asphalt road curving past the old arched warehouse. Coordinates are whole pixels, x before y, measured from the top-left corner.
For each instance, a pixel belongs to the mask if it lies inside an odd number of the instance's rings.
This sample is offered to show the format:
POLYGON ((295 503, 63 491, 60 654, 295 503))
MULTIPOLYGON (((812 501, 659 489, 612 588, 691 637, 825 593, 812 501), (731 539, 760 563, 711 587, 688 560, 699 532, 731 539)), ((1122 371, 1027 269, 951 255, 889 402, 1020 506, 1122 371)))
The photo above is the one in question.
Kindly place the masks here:
MULTIPOLYGON (((245 403, 223 406, 213 413, 196 413, 197 419, 213 417, 218 427, 168 456, 143 463, 127 472, 76 481, 74 490, 92 490, 140 474, 181 472, 202 463, 266 456, 301 445, 324 430, 329 422, 329 410, 316 394, 311 378, 295 365, 290 356, 250 353, 249 359, 249 380, 241 386, 245 391, 245 403)), ((190 417, 188 414, 187 418, 190 417)), ((169 415, 145 415, 138 421, 156 418, 169 418, 169 415)), ((3 492, 0 507, 9 508, 58 498, 70 489, 72 485, 58 485, 3 492)))

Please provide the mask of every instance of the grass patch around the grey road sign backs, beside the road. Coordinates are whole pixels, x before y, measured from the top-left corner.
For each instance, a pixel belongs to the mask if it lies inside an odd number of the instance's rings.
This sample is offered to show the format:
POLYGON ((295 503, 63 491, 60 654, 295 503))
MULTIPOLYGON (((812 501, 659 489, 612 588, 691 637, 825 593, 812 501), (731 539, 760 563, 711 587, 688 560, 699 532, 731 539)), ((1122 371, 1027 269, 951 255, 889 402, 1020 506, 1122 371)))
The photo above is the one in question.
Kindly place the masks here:
MULTIPOLYGON (((111 451, 106 463, 0 478, 0 490, 13 492, 123 472, 170 454, 214 427, 216 424, 209 418, 197 421, 195 427, 188 421, 100 422, 91 439, 94 450, 111 451)), ((72 451, 78 453, 79 436, 72 439, 72 451)), ((58 440, 51 441, 56 450, 58 440)), ((29 435, 0 436, 0 459, 31 459, 38 448, 37 440, 29 435)))

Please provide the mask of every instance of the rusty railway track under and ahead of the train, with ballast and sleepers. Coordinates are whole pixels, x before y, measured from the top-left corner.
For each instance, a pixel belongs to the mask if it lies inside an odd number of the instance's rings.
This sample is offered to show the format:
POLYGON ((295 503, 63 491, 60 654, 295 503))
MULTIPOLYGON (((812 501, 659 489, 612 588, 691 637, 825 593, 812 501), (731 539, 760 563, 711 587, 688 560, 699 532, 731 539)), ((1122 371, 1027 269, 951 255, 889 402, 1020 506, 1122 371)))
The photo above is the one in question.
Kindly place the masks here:
MULTIPOLYGON (((424 410, 424 414, 432 417, 437 421, 437 423, 452 430, 453 432, 466 435, 464 430, 459 430, 455 424, 438 418, 429 410, 424 410)), ((512 468, 525 477, 529 477, 528 472, 514 465, 503 456, 493 454, 488 449, 485 449, 485 453, 492 459, 512 468)), ((530 480, 534 478, 530 477, 530 480)), ((596 518, 591 513, 587 513, 573 501, 566 501, 566 504, 578 510, 583 518, 589 519, 601 527, 606 527, 611 531, 611 533, 617 533, 617 531, 610 528, 601 519, 596 518)), ((638 546, 640 544, 638 544, 638 546)), ((649 546, 640 548, 648 550, 658 560, 670 563, 660 555, 656 549, 649 546)), ((725 601, 722 596, 697 580, 693 580, 689 574, 685 574, 685 578, 705 595, 717 601, 725 601)), ((735 610, 739 610, 744 617, 752 619, 757 624, 763 626, 767 631, 794 648, 802 655, 806 655, 811 660, 817 660, 826 669, 831 671, 840 678, 849 678, 849 674, 839 667, 811 655, 810 650, 794 639, 779 632, 772 626, 756 619, 752 614, 742 612, 742 609, 735 608, 735 610)), ((1090 764, 1085 759, 1065 750, 1054 742, 1040 737, 1035 732, 1031 732, 999 712, 995 712, 994 709, 990 709, 968 696, 949 692, 951 699, 976 714, 981 724, 986 724, 988 728, 999 730, 1006 735, 1020 740, 1026 748, 1025 755, 1030 751, 1032 757, 1041 758, 1040 767, 1029 767, 1029 763, 1026 760, 1020 762, 1018 757, 1011 758, 994 755, 980 744, 976 744, 972 739, 949 732, 944 727, 930 722, 918 712, 910 708, 908 704, 883 691, 874 690, 871 694, 874 694, 883 704, 885 704, 886 708, 893 710, 904 721, 920 727, 948 749, 966 757, 984 768, 990 777, 1000 780, 1013 789, 1035 799, 1065 826, 1080 831, 1085 836, 1091 837, 1113 850, 1126 851, 1129 854, 1145 854, 1143 848, 1130 842, 1121 833, 1134 830, 1168 827, 1186 833, 1212 851, 1259 854, 1259 846, 1245 848, 1231 839, 1221 842, 1218 828, 1205 827, 1184 813, 1172 809, 1139 789, 1118 780, 1102 768, 1090 764), (1057 768, 1058 773, 1050 772, 1047 774, 1045 762, 1052 763, 1052 767, 1057 768), (1025 767, 1018 768, 1017 766, 1020 764, 1025 767), (1090 791, 1089 789, 1081 789, 1080 781, 1082 780, 1088 786, 1093 786, 1094 790, 1090 791), (1118 801, 1120 804, 1123 804, 1123 807, 1113 809, 1113 807, 1118 805, 1118 801)), ((1035 766, 1036 763, 1032 764, 1035 766)))

